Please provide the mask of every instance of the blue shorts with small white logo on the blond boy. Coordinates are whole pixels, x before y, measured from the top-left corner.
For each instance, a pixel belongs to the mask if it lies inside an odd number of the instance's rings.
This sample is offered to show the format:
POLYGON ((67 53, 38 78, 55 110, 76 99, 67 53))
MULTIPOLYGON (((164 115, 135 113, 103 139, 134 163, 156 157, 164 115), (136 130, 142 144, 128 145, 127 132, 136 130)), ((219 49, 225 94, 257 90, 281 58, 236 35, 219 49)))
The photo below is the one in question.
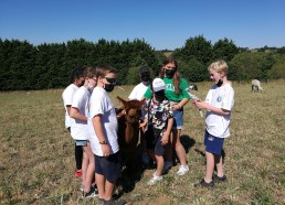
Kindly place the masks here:
POLYGON ((207 130, 204 131, 204 145, 207 152, 221 155, 223 142, 224 138, 217 138, 210 134, 207 130))

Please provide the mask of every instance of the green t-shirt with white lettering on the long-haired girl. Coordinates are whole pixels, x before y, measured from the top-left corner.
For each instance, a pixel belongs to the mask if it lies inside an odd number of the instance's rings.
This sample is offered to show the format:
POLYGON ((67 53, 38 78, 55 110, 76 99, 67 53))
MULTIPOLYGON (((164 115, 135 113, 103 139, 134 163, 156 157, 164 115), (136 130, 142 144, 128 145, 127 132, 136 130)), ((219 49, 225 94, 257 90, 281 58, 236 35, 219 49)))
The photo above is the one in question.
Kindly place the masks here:
MULTIPOLYGON (((190 95, 186 91, 188 88, 188 83, 184 78, 180 79, 180 88, 181 91, 179 95, 176 95, 175 93, 175 86, 172 84, 172 78, 163 77, 163 82, 166 83, 166 97, 170 101, 181 101, 183 98, 190 99, 190 95)), ((152 97, 152 93, 150 91, 150 86, 148 86, 147 91, 144 95, 145 98, 150 99, 152 97)))

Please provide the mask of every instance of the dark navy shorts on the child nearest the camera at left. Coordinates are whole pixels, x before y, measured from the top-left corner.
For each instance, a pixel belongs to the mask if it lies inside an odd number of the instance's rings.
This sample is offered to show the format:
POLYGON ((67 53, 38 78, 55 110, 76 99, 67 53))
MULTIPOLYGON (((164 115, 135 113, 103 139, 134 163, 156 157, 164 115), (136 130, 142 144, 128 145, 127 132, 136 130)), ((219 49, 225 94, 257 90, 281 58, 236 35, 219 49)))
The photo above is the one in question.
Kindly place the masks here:
POLYGON ((116 152, 109 157, 98 157, 95 154, 95 173, 102 174, 105 179, 115 183, 120 175, 120 158, 119 153, 116 152))

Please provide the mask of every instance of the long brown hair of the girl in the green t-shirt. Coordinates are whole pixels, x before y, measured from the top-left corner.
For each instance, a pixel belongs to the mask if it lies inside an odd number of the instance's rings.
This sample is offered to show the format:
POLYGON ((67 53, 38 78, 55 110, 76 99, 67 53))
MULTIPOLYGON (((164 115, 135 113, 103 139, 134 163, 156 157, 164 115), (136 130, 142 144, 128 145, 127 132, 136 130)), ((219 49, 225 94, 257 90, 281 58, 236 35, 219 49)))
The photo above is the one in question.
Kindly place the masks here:
POLYGON ((169 57, 166 57, 166 58, 165 58, 165 61, 163 61, 163 63, 162 63, 162 66, 161 66, 161 68, 160 68, 159 76, 160 76, 161 78, 165 77, 165 69, 163 69, 163 67, 165 67, 167 64, 169 64, 169 63, 172 63, 172 64, 176 65, 176 73, 175 73, 175 75, 173 75, 173 77, 172 77, 172 84, 173 84, 173 86, 175 86, 175 93, 176 93, 176 95, 179 95, 179 94, 181 93, 181 88, 180 88, 181 75, 180 75, 180 73, 178 72, 178 63, 177 63, 177 61, 176 61, 172 56, 169 56, 169 57))

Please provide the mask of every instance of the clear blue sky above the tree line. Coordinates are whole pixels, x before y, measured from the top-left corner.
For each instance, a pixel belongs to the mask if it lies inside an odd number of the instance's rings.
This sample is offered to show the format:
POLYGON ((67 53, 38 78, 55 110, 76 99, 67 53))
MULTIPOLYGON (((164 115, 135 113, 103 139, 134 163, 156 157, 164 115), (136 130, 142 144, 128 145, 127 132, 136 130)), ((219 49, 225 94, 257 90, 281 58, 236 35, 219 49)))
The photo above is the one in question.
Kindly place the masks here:
POLYGON ((285 46, 285 0, 0 0, 0 39, 145 40, 156 50, 203 35, 240 47, 285 46))

